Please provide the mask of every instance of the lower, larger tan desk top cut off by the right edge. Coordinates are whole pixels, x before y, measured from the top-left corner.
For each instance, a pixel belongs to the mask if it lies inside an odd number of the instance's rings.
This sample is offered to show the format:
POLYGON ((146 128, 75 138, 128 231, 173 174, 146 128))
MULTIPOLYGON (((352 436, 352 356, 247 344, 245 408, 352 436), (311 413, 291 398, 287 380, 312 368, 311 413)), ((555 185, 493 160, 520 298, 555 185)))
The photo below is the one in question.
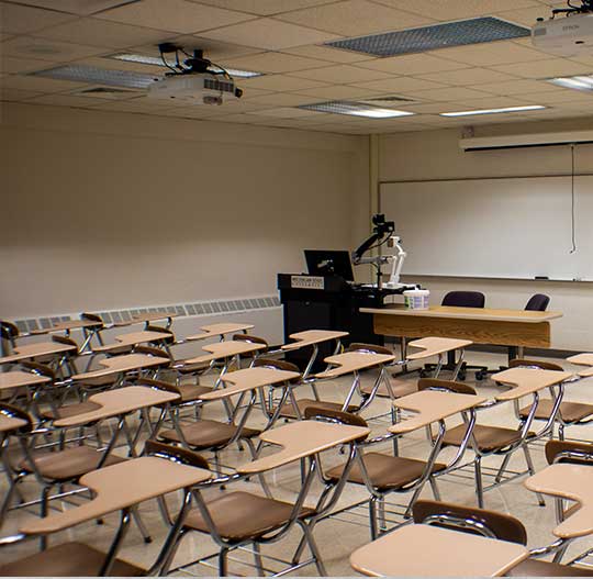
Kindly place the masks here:
POLYGON ((593 533, 593 468, 559 463, 536 472, 524 485, 534 492, 570 499, 581 505, 552 531, 557 537, 583 537, 593 533))

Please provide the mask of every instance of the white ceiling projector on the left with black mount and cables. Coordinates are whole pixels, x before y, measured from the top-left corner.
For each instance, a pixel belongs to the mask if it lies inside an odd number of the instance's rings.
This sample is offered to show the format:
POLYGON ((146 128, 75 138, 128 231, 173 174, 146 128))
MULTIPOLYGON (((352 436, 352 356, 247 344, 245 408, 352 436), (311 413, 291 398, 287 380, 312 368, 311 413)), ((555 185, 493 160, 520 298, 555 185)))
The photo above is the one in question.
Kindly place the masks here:
POLYGON ((170 69, 163 78, 148 87, 148 98, 188 101, 191 104, 223 104, 226 100, 239 99, 243 90, 237 88, 233 77, 219 65, 203 57, 202 51, 188 55, 179 46, 159 44, 160 56, 170 69), (179 52, 189 58, 179 60, 179 52), (175 63, 165 58, 165 53, 175 53, 175 63))

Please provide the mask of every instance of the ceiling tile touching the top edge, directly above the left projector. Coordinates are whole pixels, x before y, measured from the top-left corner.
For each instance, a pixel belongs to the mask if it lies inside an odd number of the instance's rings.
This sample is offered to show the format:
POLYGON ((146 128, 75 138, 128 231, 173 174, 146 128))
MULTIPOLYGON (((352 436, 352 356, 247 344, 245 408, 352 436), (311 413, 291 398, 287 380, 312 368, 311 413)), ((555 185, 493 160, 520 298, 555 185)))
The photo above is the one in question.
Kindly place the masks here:
POLYGON ((133 4, 101 12, 97 18, 190 34, 226 26, 253 16, 187 0, 142 0, 133 4))

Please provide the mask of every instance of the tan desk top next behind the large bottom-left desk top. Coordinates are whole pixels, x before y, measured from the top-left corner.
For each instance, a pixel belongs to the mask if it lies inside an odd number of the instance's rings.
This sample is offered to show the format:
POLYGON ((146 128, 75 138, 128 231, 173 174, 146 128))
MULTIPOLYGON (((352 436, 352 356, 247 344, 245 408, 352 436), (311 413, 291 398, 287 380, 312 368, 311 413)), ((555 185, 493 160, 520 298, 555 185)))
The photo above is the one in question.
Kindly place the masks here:
POLYGON ((54 421, 54 426, 70 427, 80 426, 96 420, 110 419, 120 414, 127 414, 142 408, 155 407, 177 400, 179 394, 156 390, 146 386, 127 386, 118 390, 108 390, 89 397, 88 401, 99 404, 101 408, 76 414, 66 419, 54 421))

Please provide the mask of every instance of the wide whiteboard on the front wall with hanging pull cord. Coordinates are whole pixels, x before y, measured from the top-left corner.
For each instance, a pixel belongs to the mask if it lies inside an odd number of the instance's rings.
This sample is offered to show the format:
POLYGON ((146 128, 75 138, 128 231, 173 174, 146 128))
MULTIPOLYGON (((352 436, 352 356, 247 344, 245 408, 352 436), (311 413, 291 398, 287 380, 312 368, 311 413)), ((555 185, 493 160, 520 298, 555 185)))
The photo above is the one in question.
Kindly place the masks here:
POLYGON ((593 176, 382 183, 405 275, 593 280, 593 176))

